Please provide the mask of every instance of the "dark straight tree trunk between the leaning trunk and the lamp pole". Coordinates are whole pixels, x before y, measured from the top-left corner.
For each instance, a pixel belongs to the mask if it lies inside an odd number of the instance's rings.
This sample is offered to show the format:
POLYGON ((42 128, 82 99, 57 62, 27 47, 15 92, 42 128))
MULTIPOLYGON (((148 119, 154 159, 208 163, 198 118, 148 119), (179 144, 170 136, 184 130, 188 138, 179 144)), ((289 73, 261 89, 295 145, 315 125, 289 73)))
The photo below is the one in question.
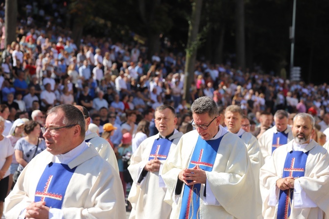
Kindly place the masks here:
POLYGON ((235 4, 236 18, 236 51, 237 51, 237 68, 246 68, 246 53, 245 53, 245 5, 244 0, 236 0, 235 4))

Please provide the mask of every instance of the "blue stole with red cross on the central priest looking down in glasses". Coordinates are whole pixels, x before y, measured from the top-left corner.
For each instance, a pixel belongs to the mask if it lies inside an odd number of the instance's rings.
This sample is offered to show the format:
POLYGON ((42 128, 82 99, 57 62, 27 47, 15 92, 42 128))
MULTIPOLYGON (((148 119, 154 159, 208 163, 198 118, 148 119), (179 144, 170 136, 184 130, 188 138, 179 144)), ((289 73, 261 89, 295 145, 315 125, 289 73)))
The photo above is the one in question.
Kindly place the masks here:
MULTIPOLYGON (((199 165, 200 168, 205 171, 212 171, 222 137, 215 140, 206 141, 199 136, 188 168, 191 169, 195 165, 199 165)), ((192 181, 188 180, 188 182, 192 181)), ((200 218, 200 189, 201 184, 194 184, 192 186, 187 186, 184 184, 182 207, 179 214, 179 219, 200 218)))

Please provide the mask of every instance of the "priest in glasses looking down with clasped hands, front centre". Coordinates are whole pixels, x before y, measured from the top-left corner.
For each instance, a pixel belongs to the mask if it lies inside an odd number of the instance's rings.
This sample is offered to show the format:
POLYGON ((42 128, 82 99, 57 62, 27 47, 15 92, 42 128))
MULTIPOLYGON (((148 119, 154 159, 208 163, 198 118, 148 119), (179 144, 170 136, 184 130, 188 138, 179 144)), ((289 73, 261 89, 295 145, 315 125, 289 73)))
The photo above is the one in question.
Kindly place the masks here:
POLYGON ((171 219, 256 219, 256 189, 245 143, 219 125, 215 101, 196 99, 193 130, 164 164, 171 219))

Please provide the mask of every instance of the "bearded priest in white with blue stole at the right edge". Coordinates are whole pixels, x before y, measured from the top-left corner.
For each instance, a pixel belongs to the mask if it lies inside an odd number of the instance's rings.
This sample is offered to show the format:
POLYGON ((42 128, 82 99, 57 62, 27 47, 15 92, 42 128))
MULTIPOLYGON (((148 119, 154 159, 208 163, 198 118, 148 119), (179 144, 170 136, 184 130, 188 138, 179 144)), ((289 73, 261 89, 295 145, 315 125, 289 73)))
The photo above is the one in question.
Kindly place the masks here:
POLYGON ((315 140, 310 114, 294 117, 294 139, 275 149, 260 169, 266 219, 326 219, 329 216, 329 154, 315 140))

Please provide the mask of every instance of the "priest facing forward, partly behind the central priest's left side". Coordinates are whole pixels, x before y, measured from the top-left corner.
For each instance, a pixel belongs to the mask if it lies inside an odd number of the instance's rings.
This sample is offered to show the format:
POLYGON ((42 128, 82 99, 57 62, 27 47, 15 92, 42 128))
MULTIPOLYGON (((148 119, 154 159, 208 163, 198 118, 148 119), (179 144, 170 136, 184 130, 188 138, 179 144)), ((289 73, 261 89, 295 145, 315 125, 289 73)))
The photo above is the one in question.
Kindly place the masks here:
POLYGON ((128 200, 132 204, 130 219, 168 219, 171 206, 164 202, 166 187, 162 179, 165 160, 175 156, 172 151, 183 133, 175 129, 175 109, 162 105, 155 110, 159 133, 146 138, 130 160, 128 170, 134 180, 128 200))

